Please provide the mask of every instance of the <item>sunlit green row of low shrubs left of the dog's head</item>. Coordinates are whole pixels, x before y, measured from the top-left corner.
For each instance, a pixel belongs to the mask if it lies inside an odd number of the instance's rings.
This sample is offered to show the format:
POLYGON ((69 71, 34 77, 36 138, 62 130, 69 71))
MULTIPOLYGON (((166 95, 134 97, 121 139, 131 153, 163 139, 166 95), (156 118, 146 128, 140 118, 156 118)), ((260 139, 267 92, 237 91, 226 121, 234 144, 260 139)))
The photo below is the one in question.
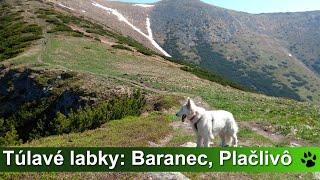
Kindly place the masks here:
POLYGON ((116 96, 95 107, 87 106, 71 112, 67 116, 58 112, 54 122, 59 134, 82 132, 87 129, 97 128, 110 120, 140 115, 144 105, 144 96, 140 91, 136 91, 131 96, 116 96))

